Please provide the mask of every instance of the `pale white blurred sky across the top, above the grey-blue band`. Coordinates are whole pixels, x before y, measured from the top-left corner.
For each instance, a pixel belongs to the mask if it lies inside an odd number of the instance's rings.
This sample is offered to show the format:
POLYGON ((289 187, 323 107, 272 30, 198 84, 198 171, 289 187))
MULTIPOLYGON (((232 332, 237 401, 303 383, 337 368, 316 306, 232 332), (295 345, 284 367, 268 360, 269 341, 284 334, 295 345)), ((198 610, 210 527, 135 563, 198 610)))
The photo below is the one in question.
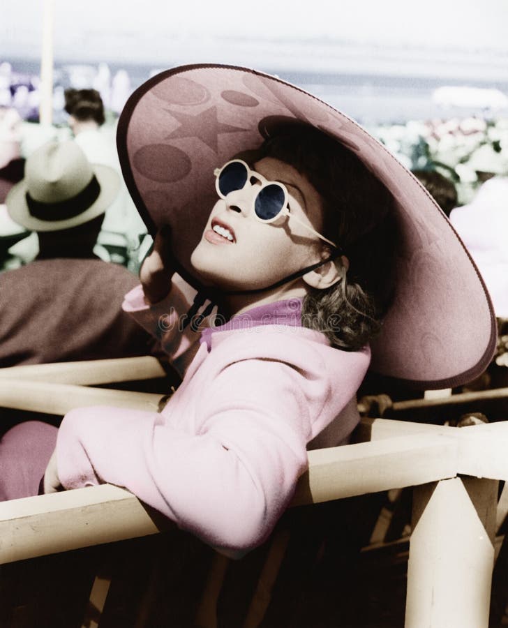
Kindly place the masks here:
MULTIPOLYGON (((44 1, 1 1, 0 59, 38 57, 44 1)), ((508 0, 53 2, 57 60, 234 61, 242 40, 269 39, 508 52, 508 0)))

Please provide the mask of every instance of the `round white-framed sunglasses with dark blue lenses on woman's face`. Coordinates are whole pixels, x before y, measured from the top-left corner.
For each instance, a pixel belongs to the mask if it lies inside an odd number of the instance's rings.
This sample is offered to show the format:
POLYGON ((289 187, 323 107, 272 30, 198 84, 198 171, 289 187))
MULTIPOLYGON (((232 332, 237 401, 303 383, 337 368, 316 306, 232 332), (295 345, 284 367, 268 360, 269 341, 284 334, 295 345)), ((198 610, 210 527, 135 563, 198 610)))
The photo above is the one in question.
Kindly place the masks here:
POLYGON ((261 186, 258 188, 254 198, 254 216, 257 220, 260 220, 262 223, 273 223, 280 216, 287 216, 296 220, 297 223, 327 242, 327 244, 337 248, 334 242, 325 238, 310 225, 299 220, 294 214, 291 214, 289 207, 287 207, 289 193, 284 184, 278 183, 278 181, 266 181, 264 177, 251 170, 241 159, 228 161, 223 167, 216 168, 214 174, 216 176, 215 187, 221 198, 227 197, 230 192, 243 190, 252 177, 261 181, 261 186))

